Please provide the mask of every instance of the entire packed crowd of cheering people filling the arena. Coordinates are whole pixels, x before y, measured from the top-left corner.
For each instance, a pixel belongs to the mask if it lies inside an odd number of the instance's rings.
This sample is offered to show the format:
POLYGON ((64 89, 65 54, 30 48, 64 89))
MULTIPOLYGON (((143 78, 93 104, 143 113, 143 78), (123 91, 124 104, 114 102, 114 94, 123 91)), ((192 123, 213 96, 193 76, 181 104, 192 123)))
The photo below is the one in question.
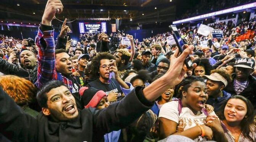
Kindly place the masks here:
POLYGON ((54 41, 51 21, 62 10, 60 0, 47 2, 35 41, 0 35, 0 141, 256 141, 256 36, 234 40, 256 19, 211 25, 221 39, 180 28, 180 54, 170 32, 73 42, 66 19, 54 41))

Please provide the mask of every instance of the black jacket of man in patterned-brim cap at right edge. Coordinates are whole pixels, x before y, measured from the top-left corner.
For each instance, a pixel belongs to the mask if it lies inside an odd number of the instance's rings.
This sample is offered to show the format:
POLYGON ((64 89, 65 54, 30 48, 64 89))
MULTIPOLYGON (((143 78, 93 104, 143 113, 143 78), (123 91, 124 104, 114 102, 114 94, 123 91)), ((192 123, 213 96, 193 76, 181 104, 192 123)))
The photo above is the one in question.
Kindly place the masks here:
MULTIPOLYGON (((233 96, 236 95, 234 90, 234 79, 235 73, 232 74, 233 82, 229 83, 227 87, 225 87, 225 91, 232 94, 233 96)), ((241 92, 239 95, 244 96, 245 98, 249 99, 256 109, 256 78, 253 76, 249 76, 249 83, 248 86, 241 92)))

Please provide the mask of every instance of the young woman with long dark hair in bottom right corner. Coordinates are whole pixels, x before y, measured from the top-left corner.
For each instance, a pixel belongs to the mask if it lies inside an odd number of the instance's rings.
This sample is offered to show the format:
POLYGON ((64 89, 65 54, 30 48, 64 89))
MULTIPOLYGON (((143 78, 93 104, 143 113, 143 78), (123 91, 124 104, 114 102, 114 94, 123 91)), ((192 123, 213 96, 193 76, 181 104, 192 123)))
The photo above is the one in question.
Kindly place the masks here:
MULTIPOLYGON (((221 111, 217 114, 224 124, 223 129, 228 142, 256 141, 254 107, 249 99, 241 95, 233 96, 222 105, 221 111)), ((210 119, 216 118, 207 118, 207 123, 214 123, 210 119)))

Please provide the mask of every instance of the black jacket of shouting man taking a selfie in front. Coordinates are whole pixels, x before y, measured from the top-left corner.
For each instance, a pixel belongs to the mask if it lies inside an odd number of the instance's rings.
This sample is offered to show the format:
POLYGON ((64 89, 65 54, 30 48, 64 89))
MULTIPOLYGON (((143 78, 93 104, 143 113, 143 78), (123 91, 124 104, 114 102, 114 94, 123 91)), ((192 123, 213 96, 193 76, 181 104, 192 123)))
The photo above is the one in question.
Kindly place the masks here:
POLYGON ((150 109, 143 87, 106 109, 83 109, 73 121, 54 122, 42 114, 33 118, 0 88, 0 134, 18 142, 98 142, 105 133, 125 128, 150 109))

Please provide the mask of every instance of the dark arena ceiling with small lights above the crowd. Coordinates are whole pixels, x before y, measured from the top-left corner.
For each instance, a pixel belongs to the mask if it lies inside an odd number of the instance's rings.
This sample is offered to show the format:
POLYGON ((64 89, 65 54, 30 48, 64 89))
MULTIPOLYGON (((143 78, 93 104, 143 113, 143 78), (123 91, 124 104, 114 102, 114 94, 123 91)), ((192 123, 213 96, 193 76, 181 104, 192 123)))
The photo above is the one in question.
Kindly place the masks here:
MULTIPOLYGON (((175 18, 178 0, 62 0, 58 19, 133 19, 136 23, 167 22, 175 18), (156 8, 156 9, 155 9, 156 8)), ((47 0, 1 0, 0 20, 40 22, 47 0)))

